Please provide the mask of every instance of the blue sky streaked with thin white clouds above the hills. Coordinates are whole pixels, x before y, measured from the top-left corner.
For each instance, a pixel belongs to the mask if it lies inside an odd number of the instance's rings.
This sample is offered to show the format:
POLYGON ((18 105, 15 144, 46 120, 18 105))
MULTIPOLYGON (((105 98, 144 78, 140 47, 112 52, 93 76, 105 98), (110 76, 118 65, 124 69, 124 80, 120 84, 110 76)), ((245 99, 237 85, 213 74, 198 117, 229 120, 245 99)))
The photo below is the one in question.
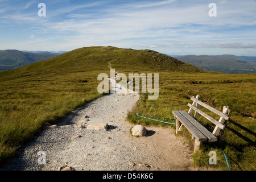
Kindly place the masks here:
POLYGON ((168 55, 256 56, 256 1, 0 0, 0 50, 90 46, 168 55))

